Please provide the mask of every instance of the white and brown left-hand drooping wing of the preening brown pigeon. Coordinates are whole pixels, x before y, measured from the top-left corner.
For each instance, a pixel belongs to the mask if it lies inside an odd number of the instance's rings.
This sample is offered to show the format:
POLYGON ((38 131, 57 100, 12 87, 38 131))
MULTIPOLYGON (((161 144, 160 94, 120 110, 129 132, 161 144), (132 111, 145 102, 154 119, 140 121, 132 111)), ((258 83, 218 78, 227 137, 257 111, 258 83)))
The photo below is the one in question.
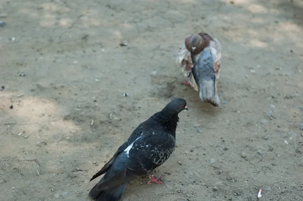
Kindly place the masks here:
POLYGON ((184 76, 187 77, 192 87, 197 91, 198 86, 191 72, 191 69, 193 68, 194 65, 192 62, 191 53, 186 48, 185 42, 183 42, 179 47, 179 51, 176 57, 176 63, 179 68, 181 67, 184 76))

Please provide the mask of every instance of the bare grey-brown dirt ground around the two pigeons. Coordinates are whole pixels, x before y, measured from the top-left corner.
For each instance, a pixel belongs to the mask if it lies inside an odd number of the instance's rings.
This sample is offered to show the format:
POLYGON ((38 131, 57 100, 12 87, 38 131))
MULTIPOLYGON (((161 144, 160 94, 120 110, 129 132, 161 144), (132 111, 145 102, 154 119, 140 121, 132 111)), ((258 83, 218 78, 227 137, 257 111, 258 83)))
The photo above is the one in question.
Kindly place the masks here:
POLYGON ((174 97, 189 111, 164 184, 139 178, 122 200, 303 200, 301 0, 0 2, 0 200, 90 200, 91 176, 174 97), (222 44, 221 108, 175 64, 201 30, 222 44))

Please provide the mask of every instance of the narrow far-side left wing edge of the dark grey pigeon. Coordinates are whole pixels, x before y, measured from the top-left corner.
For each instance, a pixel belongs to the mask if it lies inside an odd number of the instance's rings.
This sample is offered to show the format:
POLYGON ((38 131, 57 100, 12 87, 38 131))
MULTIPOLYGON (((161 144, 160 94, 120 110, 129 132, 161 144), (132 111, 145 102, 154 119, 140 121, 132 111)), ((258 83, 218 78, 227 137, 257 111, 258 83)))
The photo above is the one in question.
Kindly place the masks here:
POLYGON ((97 178, 100 175, 103 175, 104 173, 106 173, 109 168, 113 165, 113 163, 115 162, 116 158, 118 157, 118 155, 120 153, 122 153, 137 137, 139 137, 142 133, 143 130, 143 126, 144 124, 146 124, 146 122, 148 122, 149 120, 142 122, 141 124, 139 124, 139 126, 137 126, 137 128, 135 128, 135 130, 131 133, 131 135, 129 136, 129 138, 126 140, 126 142, 124 142, 117 150, 117 152, 115 153, 115 155, 113 156, 113 158, 111 158, 111 160, 109 162, 107 162, 104 167, 97 172, 95 175, 92 176, 92 178, 89 180, 93 180, 95 178, 97 178))

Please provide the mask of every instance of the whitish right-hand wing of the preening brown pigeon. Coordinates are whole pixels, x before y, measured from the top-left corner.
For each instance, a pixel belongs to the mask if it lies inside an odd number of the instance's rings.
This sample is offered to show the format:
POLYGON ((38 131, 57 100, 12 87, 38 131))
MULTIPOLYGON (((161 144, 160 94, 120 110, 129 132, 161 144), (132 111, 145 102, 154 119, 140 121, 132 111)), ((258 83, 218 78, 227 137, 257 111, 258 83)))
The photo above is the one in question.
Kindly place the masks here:
POLYGON ((221 67, 221 43, 217 38, 213 38, 210 41, 210 49, 214 62, 214 74, 218 79, 220 77, 220 67, 221 67))

